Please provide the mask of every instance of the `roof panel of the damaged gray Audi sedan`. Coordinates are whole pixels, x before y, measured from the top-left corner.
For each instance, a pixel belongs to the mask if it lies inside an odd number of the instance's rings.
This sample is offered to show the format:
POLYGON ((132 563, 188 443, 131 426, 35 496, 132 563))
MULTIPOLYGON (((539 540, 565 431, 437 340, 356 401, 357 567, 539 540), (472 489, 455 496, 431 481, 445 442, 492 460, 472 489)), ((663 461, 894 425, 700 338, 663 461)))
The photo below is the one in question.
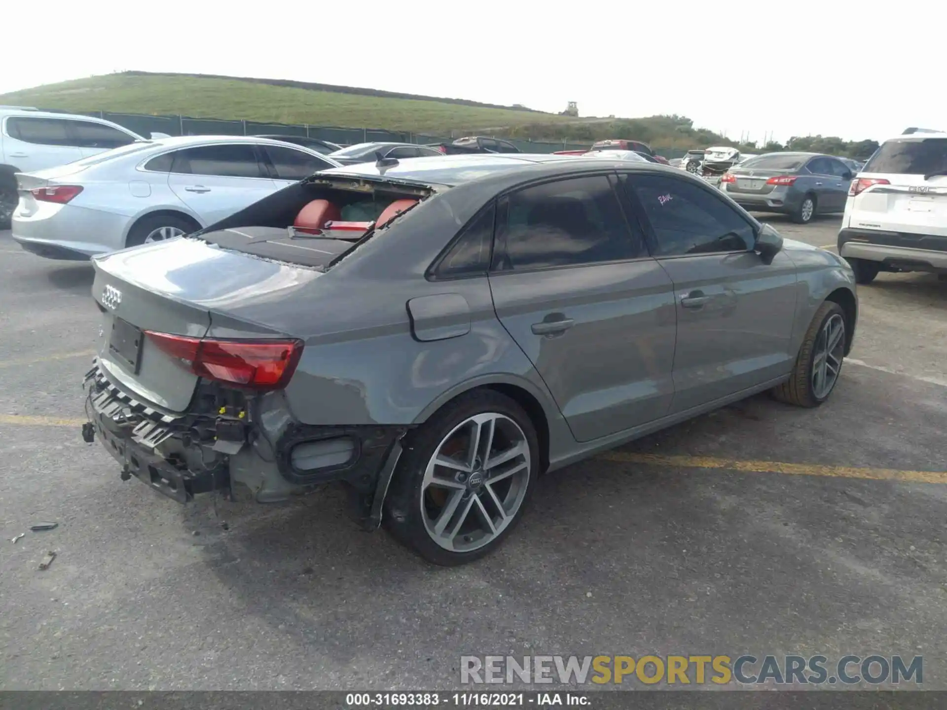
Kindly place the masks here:
MULTIPOLYGON (((359 163, 324 170, 319 174, 364 176, 426 186, 452 187, 474 182, 515 184, 522 182, 524 173, 539 179, 571 172, 600 172, 602 169, 660 169, 673 175, 680 175, 682 172, 645 160, 637 162, 552 153, 474 153, 405 158, 397 165, 382 167, 375 163, 359 163)), ((504 187, 501 185, 497 188, 504 187)))

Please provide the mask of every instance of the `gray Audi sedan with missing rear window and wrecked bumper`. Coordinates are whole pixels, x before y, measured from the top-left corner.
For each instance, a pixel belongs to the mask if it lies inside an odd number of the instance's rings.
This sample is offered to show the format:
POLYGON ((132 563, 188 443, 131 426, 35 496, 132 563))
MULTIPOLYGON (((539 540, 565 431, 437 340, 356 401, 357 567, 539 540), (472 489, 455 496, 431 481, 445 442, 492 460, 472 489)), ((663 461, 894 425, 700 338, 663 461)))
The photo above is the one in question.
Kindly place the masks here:
POLYGON ((82 435, 123 479, 182 503, 341 483, 444 565, 546 470, 763 390, 821 404, 858 311, 842 258, 686 171, 574 156, 331 169, 94 264, 82 435))

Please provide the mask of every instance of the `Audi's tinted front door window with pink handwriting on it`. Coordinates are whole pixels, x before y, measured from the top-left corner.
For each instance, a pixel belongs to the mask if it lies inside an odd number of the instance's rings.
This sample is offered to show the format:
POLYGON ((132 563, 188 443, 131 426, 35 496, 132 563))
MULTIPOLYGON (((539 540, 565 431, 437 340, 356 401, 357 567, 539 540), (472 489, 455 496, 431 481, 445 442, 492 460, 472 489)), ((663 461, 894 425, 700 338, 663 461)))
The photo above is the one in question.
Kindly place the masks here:
POLYGON ((651 223, 655 257, 742 252, 756 243, 750 222, 712 190, 664 175, 628 182, 651 223))

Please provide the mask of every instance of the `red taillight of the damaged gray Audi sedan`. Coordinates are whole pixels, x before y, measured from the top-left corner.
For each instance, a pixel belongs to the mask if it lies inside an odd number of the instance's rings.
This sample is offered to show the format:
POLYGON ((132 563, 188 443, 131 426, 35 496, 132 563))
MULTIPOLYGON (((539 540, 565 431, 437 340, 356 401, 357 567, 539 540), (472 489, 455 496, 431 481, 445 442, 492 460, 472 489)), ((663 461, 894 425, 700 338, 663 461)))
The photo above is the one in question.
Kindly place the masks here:
POLYGON ((280 389, 302 354, 298 340, 202 340, 146 330, 154 346, 199 377, 252 389, 280 389))

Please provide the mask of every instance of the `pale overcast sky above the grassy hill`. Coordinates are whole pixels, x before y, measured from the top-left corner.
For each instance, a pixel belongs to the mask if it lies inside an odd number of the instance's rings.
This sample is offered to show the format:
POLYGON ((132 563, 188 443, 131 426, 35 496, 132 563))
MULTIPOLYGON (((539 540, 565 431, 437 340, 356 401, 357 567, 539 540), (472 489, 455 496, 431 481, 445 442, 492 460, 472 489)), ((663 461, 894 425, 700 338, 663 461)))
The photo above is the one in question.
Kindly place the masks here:
POLYGON ((687 115, 754 140, 947 128, 936 0, 45 0, 3 17, 0 93, 141 69, 552 112, 573 100, 581 115, 687 115))

